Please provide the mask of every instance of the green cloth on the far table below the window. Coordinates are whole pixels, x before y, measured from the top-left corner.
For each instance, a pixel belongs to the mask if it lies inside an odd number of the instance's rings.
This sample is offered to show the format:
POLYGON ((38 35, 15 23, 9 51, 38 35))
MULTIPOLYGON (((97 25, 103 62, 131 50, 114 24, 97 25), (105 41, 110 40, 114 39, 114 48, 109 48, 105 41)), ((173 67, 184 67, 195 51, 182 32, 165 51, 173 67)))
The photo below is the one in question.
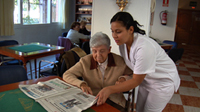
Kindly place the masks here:
POLYGON ((9 47, 9 49, 27 53, 27 52, 44 50, 44 49, 51 49, 51 47, 42 46, 42 45, 36 45, 36 44, 29 44, 29 45, 9 47))

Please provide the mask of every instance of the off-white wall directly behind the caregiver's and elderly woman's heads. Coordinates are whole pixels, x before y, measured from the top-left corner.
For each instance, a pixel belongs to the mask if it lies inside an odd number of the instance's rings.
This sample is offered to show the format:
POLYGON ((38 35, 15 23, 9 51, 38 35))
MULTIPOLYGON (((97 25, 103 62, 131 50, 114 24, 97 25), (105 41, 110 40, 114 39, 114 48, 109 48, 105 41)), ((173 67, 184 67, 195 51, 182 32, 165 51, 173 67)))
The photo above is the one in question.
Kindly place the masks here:
MULTIPOLYGON (((149 32, 150 0, 128 0, 124 11, 132 14, 133 18, 141 25, 142 29, 149 32)), ((119 54, 118 46, 112 38, 110 19, 119 11, 116 0, 93 0, 92 8, 92 35, 96 32, 106 33, 111 38, 111 51, 119 54)))

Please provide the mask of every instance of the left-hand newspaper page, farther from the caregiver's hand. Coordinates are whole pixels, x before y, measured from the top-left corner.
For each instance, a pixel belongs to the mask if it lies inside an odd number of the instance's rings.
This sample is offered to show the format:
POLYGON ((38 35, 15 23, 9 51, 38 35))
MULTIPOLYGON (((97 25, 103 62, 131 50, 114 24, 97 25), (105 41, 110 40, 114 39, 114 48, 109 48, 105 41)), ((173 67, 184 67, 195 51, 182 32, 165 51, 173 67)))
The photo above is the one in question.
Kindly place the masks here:
POLYGON ((66 82, 55 78, 45 82, 38 82, 32 85, 19 85, 21 91, 27 96, 37 100, 46 96, 58 95, 63 92, 69 92, 73 89, 78 89, 75 86, 67 84, 66 82))

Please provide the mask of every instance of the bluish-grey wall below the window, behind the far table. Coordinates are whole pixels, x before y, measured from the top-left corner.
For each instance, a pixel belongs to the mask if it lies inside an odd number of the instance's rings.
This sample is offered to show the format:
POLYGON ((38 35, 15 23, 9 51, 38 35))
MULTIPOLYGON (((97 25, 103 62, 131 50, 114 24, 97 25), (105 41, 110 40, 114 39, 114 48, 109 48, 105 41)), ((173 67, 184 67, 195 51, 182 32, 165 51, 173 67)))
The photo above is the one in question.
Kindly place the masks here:
POLYGON ((75 19, 75 1, 69 0, 69 3, 69 25, 65 30, 61 29, 58 23, 40 25, 15 25, 15 35, 0 36, 0 41, 17 40, 19 43, 42 42, 56 45, 58 36, 61 36, 64 31, 68 31, 71 23, 75 19))

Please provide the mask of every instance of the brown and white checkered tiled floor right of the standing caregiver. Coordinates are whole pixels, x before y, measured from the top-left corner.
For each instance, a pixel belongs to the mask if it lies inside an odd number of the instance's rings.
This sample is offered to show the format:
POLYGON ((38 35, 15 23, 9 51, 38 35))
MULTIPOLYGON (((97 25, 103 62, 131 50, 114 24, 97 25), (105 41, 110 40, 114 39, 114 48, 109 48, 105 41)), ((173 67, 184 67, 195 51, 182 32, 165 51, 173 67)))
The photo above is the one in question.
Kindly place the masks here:
POLYGON ((178 67, 181 85, 163 112, 200 112, 200 50, 184 49, 178 67))

